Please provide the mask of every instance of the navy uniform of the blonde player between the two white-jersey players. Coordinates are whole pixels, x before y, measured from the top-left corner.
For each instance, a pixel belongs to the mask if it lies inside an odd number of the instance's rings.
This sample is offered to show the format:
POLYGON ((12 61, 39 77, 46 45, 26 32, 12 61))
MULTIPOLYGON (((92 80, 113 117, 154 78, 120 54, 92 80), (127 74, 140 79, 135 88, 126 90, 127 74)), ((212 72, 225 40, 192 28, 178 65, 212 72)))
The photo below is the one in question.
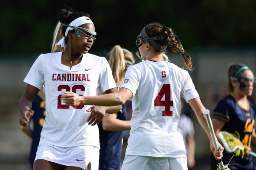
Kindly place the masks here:
MULTIPOLYGON (((122 112, 118 112, 117 119, 126 120, 126 105, 122 105, 122 112)), ((122 139, 124 132, 110 132, 99 126, 99 170, 119 170, 122 155, 122 139)))

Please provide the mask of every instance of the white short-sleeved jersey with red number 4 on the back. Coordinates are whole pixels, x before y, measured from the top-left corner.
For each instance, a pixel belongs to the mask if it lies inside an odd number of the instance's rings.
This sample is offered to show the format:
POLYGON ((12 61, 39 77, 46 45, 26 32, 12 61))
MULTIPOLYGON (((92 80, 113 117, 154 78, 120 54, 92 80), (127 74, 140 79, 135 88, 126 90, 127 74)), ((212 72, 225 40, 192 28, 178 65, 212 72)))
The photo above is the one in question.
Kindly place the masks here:
POLYGON ((166 61, 129 66, 121 88, 133 93, 127 155, 186 157, 180 121, 180 97, 198 98, 189 73, 166 61))

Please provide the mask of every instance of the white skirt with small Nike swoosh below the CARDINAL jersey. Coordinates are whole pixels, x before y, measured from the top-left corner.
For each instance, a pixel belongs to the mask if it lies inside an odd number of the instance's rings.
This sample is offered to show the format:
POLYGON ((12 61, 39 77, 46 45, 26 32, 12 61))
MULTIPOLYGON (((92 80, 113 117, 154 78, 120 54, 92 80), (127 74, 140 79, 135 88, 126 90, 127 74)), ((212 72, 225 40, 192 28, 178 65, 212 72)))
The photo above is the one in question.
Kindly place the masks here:
POLYGON ((91 170, 99 169, 99 148, 82 145, 76 147, 56 147, 42 144, 38 146, 35 161, 44 159, 70 167, 85 169, 89 162, 91 170))

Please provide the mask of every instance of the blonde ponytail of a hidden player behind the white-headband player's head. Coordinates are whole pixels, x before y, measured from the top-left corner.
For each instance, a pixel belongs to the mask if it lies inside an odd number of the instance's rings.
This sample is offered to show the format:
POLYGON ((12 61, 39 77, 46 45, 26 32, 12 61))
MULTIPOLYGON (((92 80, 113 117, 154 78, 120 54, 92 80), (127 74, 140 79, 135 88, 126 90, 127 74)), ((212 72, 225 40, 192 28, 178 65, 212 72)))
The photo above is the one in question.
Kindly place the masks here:
POLYGON ((51 52, 62 52, 64 51, 64 47, 61 47, 61 45, 56 46, 56 43, 63 37, 63 34, 61 32, 61 28, 63 26, 63 23, 58 22, 55 30, 53 32, 53 39, 52 39, 52 49, 51 52))

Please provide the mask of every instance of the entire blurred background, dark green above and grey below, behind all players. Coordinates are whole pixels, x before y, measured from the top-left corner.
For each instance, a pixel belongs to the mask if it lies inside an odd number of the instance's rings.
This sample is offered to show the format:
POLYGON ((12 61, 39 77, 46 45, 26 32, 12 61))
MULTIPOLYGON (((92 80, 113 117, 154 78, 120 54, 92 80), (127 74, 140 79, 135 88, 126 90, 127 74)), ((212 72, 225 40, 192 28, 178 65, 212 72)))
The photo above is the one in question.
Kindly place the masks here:
MULTIPOLYGON (((256 72, 256 0, 1 1, 0 170, 29 170, 31 141, 20 130, 18 110, 26 88, 23 79, 35 58, 50 52, 57 14, 64 6, 91 15, 97 39, 90 53, 100 56, 116 44, 135 53, 136 37, 148 23, 171 27, 192 57, 195 70, 189 74, 210 112, 227 94, 230 63, 244 63, 256 72)), ((180 54, 167 55, 171 62, 183 66, 180 54)), ((255 98, 254 90, 254 103, 255 98)), ((196 140, 193 170, 208 170, 209 142, 194 113, 190 116, 195 122, 196 140)))

